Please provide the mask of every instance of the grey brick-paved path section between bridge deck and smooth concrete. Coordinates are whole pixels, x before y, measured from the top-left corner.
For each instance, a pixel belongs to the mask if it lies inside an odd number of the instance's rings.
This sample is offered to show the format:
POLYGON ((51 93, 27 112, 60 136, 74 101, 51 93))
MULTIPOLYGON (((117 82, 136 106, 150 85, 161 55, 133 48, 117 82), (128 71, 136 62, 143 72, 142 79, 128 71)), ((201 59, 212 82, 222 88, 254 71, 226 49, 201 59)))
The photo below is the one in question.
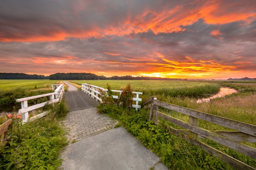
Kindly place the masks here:
POLYGON ((95 107, 69 112, 62 124, 69 129, 68 139, 80 141, 112 129, 117 122, 104 114, 97 113, 95 107))

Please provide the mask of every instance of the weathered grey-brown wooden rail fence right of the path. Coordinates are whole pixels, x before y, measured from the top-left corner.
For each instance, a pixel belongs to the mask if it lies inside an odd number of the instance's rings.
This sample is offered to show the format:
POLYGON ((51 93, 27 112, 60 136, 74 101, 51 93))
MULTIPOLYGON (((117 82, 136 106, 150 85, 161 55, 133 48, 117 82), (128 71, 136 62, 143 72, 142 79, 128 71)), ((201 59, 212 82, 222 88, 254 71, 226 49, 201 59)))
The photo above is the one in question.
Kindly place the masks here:
POLYGON ((180 136, 181 138, 187 140, 193 145, 202 148, 204 151, 212 154, 213 156, 223 160, 224 162, 234 166, 237 169, 246 170, 256 170, 251 166, 240 162, 239 160, 230 157, 229 155, 218 151, 217 149, 206 145, 205 143, 198 141, 198 138, 207 138, 215 141, 221 145, 234 149, 240 153, 243 153, 251 158, 256 159, 256 149, 245 145, 240 142, 256 142, 256 126, 251 124, 242 123, 240 121, 235 121, 216 115, 199 112, 193 109, 176 106, 174 104, 166 103, 157 100, 156 97, 151 97, 143 103, 145 108, 150 108, 149 121, 153 119, 155 124, 159 123, 159 117, 170 121, 186 130, 174 129, 169 127, 170 132, 180 136), (151 104, 148 104, 150 103, 151 104), (148 105, 146 105, 148 104, 148 105), (189 123, 176 119, 170 115, 159 112, 159 107, 170 109, 189 116, 189 123), (208 122, 224 126, 226 128, 234 129, 236 131, 215 131, 206 130, 198 127, 198 119, 206 120, 208 122))

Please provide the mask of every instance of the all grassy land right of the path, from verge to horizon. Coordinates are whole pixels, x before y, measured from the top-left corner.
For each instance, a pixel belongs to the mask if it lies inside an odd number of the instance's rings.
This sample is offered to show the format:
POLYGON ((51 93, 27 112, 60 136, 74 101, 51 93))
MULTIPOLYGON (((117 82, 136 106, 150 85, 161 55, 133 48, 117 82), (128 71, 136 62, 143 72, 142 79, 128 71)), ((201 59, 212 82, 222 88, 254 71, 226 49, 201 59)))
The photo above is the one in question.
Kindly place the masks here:
MULTIPOLYGON (((102 83, 102 81, 96 80, 91 81, 90 84, 96 85, 96 82, 98 83, 97 85, 102 83)), ((130 83, 131 82, 132 81, 130 81, 130 83)), ((170 81, 170 83, 179 84, 180 82, 177 83, 177 81, 170 81)), ((209 84, 207 84, 205 81, 192 81, 190 83, 194 84, 191 86, 186 86, 183 84, 182 87, 175 87, 171 85, 168 86, 165 84, 155 89, 150 87, 150 84, 153 84, 153 82, 149 82, 149 84, 145 84, 147 88, 138 88, 138 86, 134 85, 133 87, 134 89, 140 89, 144 92, 142 97, 143 101, 150 96, 155 96, 160 101, 256 125, 256 94, 254 83, 247 84, 246 81, 208 81, 209 84), (187 91, 190 88, 190 92, 199 91, 201 88, 198 87, 204 87, 205 85, 210 85, 209 88, 206 88, 204 91, 207 93, 209 93, 209 90, 212 88, 217 89, 218 85, 235 88, 238 90, 238 93, 222 98, 216 98, 211 102, 202 103, 197 103, 196 96, 183 95, 184 91, 187 91), (167 93, 166 91, 163 91, 163 89, 176 91, 180 95, 172 95, 171 92, 167 93)), ((118 86, 116 86, 116 88, 118 88, 118 86)), ((121 113, 118 113, 118 109, 111 107, 105 109, 108 110, 108 115, 122 121, 123 125, 129 132, 136 136, 144 146, 158 154, 162 161, 171 169, 233 169, 230 165, 209 154, 206 154, 202 151, 202 149, 194 147, 190 143, 185 142, 175 135, 166 133, 167 126, 171 126, 175 129, 182 129, 180 126, 165 121, 163 121, 159 126, 149 124, 147 123, 148 111, 143 111, 143 109, 141 109, 138 113, 129 113, 129 111, 126 110, 122 110, 121 113)), ((104 111, 104 109, 101 110, 104 111)), ((159 108, 159 110, 160 112, 171 115, 174 118, 189 122, 189 117, 187 115, 175 111, 168 111, 164 108, 159 108)), ((209 123, 204 120, 199 120, 198 126, 207 130, 230 130, 223 126, 209 123)), ((245 156, 244 154, 236 152, 233 149, 229 149, 211 140, 199 139, 199 141, 202 141, 213 148, 217 148, 218 150, 240 160, 241 162, 256 168, 256 160, 253 158, 245 156)), ((246 144, 250 147, 256 148, 256 143, 246 144)))

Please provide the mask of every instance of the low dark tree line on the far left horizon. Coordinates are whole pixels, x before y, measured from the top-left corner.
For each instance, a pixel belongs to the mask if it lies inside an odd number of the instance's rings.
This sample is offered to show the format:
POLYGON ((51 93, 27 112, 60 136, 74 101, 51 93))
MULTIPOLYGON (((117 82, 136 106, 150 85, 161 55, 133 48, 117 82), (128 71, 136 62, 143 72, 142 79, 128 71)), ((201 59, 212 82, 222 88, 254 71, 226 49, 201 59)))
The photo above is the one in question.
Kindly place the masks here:
POLYGON ((0 79, 49 79, 48 76, 25 73, 0 73, 0 79))

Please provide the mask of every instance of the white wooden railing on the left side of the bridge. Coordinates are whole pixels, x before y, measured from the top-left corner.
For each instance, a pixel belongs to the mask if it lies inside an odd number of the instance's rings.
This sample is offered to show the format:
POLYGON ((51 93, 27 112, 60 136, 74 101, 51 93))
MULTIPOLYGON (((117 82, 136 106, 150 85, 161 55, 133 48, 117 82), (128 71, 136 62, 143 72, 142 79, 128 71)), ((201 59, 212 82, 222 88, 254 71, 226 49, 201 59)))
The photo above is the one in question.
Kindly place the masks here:
POLYGON ((36 120, 38 118, 41 118, 45 115, 47 115, 47 111, 37 114, 31 118, 28 118, 28 112, 29 111, 33 111, 35 109, 44 107, 47 103, 55 103, 58 102, 60 100, 62 100, 63 94, 64 94, 64 85, 63 84, 58 84, 58 85, 52 85, 52 88, 54 90, 54 92, 52 93, 48 93, 48 94, 43 94, 43 95, 37 95, 37 96, 31 96, 31 97, 25 97, 25 98, 20 98, 17 99, 16 102, 21 102, 21 109, 19 109, 18 113, 22 114, 22 121, 23 122, 27 122, 27 121, 33 121, 36 120), (54 90, 54 86, 56 86, 56 89, 54 90), (28 106, 27 101, 34 99, 34 98, 39 98, 39 97, 45 97, 45 96, 50 96, 50 100, 47 102, 43 102, 43 103, 39 103, 39 104, 35 104, 32 106, 28 106))

